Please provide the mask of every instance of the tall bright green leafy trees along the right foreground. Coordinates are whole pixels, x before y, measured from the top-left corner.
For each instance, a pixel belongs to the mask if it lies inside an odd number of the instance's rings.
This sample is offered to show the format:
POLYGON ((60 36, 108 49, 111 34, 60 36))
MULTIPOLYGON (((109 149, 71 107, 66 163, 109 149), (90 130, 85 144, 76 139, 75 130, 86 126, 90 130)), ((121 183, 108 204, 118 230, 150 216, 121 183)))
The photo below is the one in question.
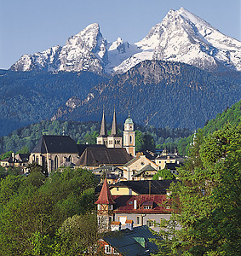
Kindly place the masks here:
POLYGON ((180 182, 170 188, 175 212, 161 222, 158 255, 241 254, 240 152, 240 123, 207 135, 198 130, 180 182))

